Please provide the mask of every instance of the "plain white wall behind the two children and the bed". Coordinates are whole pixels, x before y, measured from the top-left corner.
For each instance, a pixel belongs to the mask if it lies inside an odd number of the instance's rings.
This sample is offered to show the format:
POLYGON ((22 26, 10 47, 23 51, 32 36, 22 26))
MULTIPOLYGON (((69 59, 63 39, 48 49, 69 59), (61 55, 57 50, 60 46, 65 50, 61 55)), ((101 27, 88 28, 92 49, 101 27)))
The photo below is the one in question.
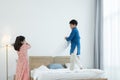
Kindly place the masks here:
MULTIPOLYGON (((0 0, 0 40, 7 34, 11 43, 24 35, 32 56, 69 55, 69 48, 55 53, 70 33, 69 21, 77 19, 81 34, 81 60, 93 67, 94 0, 0 0)), ((15 72, 15 51, 9 52, 9 76, 15 72)), ((0 80, 5 80, 5 49, 0 48, 0 80)))

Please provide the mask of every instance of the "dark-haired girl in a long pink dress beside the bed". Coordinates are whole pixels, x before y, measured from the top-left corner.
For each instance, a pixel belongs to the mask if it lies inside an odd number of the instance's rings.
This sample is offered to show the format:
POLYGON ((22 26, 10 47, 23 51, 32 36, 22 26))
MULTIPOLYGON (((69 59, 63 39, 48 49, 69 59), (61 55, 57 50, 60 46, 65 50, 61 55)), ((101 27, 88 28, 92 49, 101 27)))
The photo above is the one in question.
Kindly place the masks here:
POLYGON ((15 80, 29 80, 27 50, 30 48, 30 45, 25 41, 24 36, 18 36, 13 46, 18 54, 15 80))

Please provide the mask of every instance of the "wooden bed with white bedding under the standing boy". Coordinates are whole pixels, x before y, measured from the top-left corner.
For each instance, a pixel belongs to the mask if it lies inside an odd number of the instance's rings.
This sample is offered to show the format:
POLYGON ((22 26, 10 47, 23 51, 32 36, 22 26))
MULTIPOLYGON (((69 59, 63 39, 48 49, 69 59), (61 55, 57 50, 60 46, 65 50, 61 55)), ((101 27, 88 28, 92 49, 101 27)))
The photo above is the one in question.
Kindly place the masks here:
POLYGON ((66 69, 62 70, 47 70, 47 71, 39 71, 37 73, 38 77, 35 79, 33 75, 33 70, 37 70, 38 67, 44 65, 47 66, 51 63, 60 63, 65 64, 69 63, 70 57, 69 56, 30 56, 29 57, 29 65, 30 65, 30 75, 31 80, 107 80, 105 76, 98 76, 98 75, 91 75, 92 69, 84 69, 77 72, 70 72, 66 69), (86 75, 89 72, 89 77, 86 75), (79 76, 78 76, 79 75, 79 76), (41 77, 42 76, 42 77, 41 77), (63 77, 64 76, 64 77, 63 77), (67 77, 69 76, 69 78, 67 77))

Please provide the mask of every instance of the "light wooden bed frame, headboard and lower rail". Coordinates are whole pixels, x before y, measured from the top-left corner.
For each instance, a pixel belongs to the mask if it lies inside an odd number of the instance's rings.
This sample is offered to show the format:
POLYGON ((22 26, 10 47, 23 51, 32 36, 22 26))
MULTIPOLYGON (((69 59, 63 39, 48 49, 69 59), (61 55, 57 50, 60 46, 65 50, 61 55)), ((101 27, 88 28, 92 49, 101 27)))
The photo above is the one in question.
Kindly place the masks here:
MULTIPOLYGON (((29 57, 29 65, 30 65, 30 71, 34 68, 38 68, 41 65, 49 65, 51 63, 60 63, 65 64, 70 62, 69 56, 30 56, 29 57)), ((31 78, 31 80, 33 80, 31 78)), ((77 79, 78 80, 78 79, 77 79)), ((79 79, 79 80, 107 80, 106 78, 97 78, 97 79, 79 79)))

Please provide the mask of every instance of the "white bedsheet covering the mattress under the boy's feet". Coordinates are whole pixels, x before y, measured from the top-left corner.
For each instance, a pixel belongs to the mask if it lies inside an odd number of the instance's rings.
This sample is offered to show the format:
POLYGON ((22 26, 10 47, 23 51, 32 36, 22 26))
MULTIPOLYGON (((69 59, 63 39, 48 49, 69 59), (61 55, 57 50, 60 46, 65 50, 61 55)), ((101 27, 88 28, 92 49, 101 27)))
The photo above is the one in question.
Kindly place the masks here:
POLYGON ((82 69, 70 71, 69 69, 38 68, 31 71, 34 80, 74 80, 89 78, 105 78, 105 72, 98 69, 82 69))

